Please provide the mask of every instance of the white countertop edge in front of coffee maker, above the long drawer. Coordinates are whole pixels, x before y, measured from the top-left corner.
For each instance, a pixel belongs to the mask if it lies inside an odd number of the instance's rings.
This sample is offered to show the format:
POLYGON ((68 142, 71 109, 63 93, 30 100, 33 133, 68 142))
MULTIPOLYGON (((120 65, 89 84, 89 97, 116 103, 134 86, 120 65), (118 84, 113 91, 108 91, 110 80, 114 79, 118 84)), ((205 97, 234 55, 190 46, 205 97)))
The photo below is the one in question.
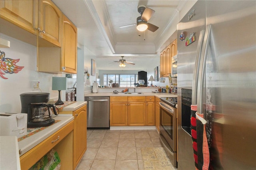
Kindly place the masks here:
MULTIPOLYGON (((35 147, 37 144, 39 144, 55 132, 57 132, 60 128, 70 123, 74 119, 74 117, 72 115, 58 115, 54 119, 60 121, 18 142, 19 150, 21 151, 20 156, 28 152, 30 149, 35 147)), ((13 145, 10 143, 9 147, 13 147, 13 145)))

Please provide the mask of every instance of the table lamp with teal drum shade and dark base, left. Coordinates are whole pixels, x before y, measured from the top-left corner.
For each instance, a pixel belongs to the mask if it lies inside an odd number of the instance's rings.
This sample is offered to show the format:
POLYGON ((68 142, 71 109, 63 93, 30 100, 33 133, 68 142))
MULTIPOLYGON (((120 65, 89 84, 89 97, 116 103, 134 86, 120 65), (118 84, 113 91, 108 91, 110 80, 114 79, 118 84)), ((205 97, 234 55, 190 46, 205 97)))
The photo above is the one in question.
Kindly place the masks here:
POLYGON ((66 77, 52 77, 52 90, 59 91, 59 99, 56 101, 55 105, 63 105, 64 102, 60 99, 60 91, 66 90, 66 77))

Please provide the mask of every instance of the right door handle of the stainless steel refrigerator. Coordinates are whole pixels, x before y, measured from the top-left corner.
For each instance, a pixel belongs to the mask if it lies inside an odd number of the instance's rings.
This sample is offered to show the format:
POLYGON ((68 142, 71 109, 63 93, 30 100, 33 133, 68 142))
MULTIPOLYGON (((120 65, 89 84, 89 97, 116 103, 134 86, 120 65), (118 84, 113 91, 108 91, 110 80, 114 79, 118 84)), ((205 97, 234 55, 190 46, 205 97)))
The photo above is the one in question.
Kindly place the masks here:
POLYGON ((197 88, 197 112, 202 114, 203 111, 203 85, 204 85, 204 74, 206 67, 206 57, 208 53, 208 47, 211 38, 211 24, 206 26, 206 32, 204 36, 204 43, 202 46, 202 57, 200 58, 199 74, 198 74, 198 88, 197 88))

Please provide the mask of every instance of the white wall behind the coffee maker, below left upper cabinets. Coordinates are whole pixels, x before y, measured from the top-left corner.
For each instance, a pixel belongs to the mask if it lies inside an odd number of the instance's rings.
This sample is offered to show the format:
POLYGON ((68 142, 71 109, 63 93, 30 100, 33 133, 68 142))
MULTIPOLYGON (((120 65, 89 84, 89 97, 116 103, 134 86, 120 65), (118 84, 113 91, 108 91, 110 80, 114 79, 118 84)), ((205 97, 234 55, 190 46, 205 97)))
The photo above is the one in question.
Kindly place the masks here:
MULTIPOLYGON (((10 41, 10 48, 0 48, 5 52, 5 58, 20 59, 16 63, 24 68, 18 73, 6 73, 0 77, 0 112, 20 113, 20 94, 32 91, 31 81, 40 81, 42 92, 50 93, 50 98, 58 99, 58 91, 52 91, 52 77, 65 75, 42 73, 36 71, 36 46, 21 42, 4 34, 1 38, 10 41)), ((62 101, 65 101, 65 91, 62 91, 62 101)))

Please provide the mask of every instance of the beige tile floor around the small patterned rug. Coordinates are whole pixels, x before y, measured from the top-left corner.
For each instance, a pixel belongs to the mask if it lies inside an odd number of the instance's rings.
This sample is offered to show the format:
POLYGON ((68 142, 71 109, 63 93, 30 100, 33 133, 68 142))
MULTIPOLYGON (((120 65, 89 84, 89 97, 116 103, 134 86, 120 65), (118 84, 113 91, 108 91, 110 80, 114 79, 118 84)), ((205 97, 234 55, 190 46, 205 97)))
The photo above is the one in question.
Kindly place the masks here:
POLYGON ((144 170, 142 147, 162 147, 156 130, 87 130, 76 170, 144 170))

